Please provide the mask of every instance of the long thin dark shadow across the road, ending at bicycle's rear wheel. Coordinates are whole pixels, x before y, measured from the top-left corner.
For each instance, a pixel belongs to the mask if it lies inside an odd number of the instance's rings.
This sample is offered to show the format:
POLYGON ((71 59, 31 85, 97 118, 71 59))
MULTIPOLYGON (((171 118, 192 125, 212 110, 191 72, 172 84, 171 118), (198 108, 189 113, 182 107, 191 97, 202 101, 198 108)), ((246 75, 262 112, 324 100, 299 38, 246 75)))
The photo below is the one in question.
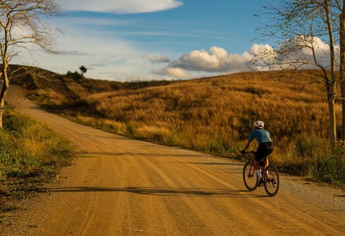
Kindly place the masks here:
POLYGON ((126 192, 143 195, 159 196, 188 196, 188 197, 267 197, 249 194, 247 190, 225 190, 225 189, 196 189, 196 188, 153 188, 153 187, 125 187, 125 188, 104 188, 104 187, 69 187, 69 188, 47 188, 48 192, 79 193, 79 192, 126 192))

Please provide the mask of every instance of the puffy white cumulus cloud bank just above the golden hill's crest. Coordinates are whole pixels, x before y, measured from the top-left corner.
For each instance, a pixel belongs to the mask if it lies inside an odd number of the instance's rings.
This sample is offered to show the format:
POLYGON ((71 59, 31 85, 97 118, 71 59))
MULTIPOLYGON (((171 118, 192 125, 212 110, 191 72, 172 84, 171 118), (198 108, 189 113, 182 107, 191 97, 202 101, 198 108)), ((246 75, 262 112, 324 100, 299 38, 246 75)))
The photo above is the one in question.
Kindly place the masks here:
MULTIPOLYGON (((314 38, 313 45, 315 48, 315 54, 318 64, 327 67, 330 64, 329 59, 329 45, 323 42, 319 38, 314 38)), ((265 61, 270 61, 270 69, 281 69, 291 66, 291 64, 298 65, 297 62, 312 62, 313 54, 310 46, 307 42, 303 42, 304 45, 299 45, 302 40, 299 37, 287 40, 279 45, 274 50, 269 44, 253 44, 250 50, 245 51, 242 54, 229 54, 224 48, 211 47, 209 51, 206 50, 193 50, 187 54, 182 55, 179 59, 170 61, 168 66, 159 70, 151 71, 156 75, 170 75, 179 78, 189 78, 186 71, 193 72, 207 72, 207 73, 236 73, 245 72, 250 69, 269 69, 263 68, 265 63, 260 63, 260 57, 258 55, 265 55, 265 61), (291 45, 299 45, 295 47, 296 50, 292 50, 291 53, 284 58, 280 57, 276 51, 284 51, 291 45), (258 57, 255 58, 255 57, 258 57), (252 59, 256 59, 255 65, 252 63, 252 59), (290 63, 291 62, 291 63, 290 63), (260 64, 262 66, 260 66, 260 64)), ((339 47, 335 45, 336 58, 339 58, 339 47)), ((306 63, 306 65, 300 68, 315 68, 312 63, 306 63)))

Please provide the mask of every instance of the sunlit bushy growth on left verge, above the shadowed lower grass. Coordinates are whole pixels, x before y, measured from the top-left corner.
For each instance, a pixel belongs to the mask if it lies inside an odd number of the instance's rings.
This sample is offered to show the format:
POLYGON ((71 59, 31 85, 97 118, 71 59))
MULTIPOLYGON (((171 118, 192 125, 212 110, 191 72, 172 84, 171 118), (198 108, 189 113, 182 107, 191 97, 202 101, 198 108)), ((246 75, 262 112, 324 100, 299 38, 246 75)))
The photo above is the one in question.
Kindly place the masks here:
POLYGON ((32 119, 6 110, 0 130, 0 179, 49 174, 72 157, 69 141, 32 119))

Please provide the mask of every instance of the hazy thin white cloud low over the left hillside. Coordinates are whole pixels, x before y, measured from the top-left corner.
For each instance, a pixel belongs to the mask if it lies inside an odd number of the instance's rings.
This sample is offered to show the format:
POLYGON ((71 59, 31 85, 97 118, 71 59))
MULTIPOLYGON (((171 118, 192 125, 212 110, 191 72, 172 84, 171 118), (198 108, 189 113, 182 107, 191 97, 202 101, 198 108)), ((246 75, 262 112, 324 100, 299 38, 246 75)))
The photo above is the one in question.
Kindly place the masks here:
POLYGON ((97 31, 84 30, 75 24, 63 18, 51 22, 53 29, 59 27, 65 32, 56 39, 56 50, 63 55, 50 55, 39 50, 36 50, 38 55, 30 55, 23 50, 13 63, 38 66, 58 73, 78 70, 80 65, 85 65, 90 69, 86 77, 94 79, 125 81, 138 78, 138 75, 140 79, 146 79, 147 74, 148 79, 157 79, 149 73, 153 68, 148 68, 147 62, 140 58, 147 51, 128 40, 115 37, 104 39, 97 31), (135 72, 133 68, 136 68, 135 72))

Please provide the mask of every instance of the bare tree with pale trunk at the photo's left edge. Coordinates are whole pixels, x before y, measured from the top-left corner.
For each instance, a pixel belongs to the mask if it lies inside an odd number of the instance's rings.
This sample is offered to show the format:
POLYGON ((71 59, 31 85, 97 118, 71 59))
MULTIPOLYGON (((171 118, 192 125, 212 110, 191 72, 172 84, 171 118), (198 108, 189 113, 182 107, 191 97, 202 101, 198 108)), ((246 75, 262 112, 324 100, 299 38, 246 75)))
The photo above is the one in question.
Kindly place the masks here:
POLYGON ((30 53, 37 48, 57 53, 53 49, 54 34, 42 19, 59 15, 60 5, 53 0, 0 0, 0 128, 10 82, 8 66, 11 60, 23 49, 30 53))

